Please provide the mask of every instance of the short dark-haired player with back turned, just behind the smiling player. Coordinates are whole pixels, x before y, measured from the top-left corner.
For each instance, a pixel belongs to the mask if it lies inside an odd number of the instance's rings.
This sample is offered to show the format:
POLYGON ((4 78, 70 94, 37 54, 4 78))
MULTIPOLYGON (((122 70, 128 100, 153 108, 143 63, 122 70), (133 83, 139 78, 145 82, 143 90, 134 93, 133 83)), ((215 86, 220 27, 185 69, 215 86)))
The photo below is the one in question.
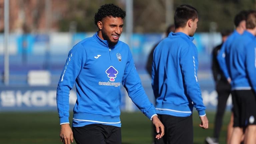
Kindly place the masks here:
POLYGON ((165 126, 163 139, 155 143, 193 143, 193 107, 199 113, 200 127, 208 128, 201 90, 197 79, 197 48, 193 35, 198 11, 189 5, 176 8, 175 33, 171 32, 154 51, 152 87, 156 112, 165 126))

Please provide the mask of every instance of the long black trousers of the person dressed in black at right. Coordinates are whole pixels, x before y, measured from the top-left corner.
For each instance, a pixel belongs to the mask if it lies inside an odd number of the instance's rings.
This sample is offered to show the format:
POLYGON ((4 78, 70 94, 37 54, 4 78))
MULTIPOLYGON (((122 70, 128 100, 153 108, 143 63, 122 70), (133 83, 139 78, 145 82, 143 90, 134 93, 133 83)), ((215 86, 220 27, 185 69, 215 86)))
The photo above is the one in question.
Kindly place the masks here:
POLYGON ((214 121, 213 137, 219 139, 227 100, 231 93, 231 87, 226 82, 219 82, 219 84, 216 86, 216 91, 218 93, 218 106, 214 121))

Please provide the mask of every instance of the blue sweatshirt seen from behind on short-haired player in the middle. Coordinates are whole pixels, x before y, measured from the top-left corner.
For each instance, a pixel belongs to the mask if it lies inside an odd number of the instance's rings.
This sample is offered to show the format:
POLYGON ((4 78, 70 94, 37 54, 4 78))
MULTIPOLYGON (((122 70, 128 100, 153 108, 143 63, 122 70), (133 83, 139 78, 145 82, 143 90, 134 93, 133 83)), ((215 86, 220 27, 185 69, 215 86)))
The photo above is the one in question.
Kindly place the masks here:
POLYGON ((193 39, 182 32, 171 32, 154 51, 152 87, 157 114, 187 117, 194 106, 200 116, 205 115, 193 39))

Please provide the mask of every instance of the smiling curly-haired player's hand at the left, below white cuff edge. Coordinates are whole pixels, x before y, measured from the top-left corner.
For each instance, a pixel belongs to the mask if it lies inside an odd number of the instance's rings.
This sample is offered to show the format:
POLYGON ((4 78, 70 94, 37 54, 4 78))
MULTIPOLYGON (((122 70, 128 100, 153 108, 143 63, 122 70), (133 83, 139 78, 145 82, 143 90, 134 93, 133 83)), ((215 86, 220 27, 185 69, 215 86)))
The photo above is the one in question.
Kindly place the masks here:
POLYGON ((60 141, 63 144, 70 144, 70 140, 73 143, 73 132, 69 124, 60 125, 60 141))

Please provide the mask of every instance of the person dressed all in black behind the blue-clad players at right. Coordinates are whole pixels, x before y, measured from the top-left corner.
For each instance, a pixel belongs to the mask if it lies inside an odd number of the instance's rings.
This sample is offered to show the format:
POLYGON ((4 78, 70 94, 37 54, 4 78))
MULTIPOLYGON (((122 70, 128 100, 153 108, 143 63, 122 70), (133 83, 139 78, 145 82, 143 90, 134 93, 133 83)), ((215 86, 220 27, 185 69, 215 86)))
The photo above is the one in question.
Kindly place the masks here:
MULTIPOLYGON (((217 144, 219 141, 220 130, 222 126, 222 120, 226 109, 228 97, 231 93, 231 86, 228 83, 226 77, 220 69, 217 55, 220 51, 223 43, 228 36, 232 33, 230 30, 224 30, 221 32, 222 43, 212 50, 212 74, 215 82, 215 89, 218 93, 218 106, 217 113, 215 115, 213 137, 207 137, 205 140, 208 144, 217 144)), ((232 131, 232 130, 231 130, 232 131)))

